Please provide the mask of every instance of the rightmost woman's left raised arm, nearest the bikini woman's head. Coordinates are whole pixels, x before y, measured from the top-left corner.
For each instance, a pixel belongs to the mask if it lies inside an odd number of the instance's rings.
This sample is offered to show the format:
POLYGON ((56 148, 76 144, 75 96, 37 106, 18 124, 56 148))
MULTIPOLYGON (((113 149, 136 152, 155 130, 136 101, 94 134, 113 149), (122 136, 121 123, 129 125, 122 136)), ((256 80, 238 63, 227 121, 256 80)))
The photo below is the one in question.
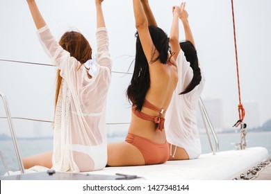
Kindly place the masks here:
POLYGON ((181 50, 181 46, 179 44, 179 13, 181 12, 181 8, 179 6, 173 6, 172 13, 172 26, 170 30, 170 48, 172 53, 176 53, 173 55, 173 58, 176 60, 179 51, 181 50))

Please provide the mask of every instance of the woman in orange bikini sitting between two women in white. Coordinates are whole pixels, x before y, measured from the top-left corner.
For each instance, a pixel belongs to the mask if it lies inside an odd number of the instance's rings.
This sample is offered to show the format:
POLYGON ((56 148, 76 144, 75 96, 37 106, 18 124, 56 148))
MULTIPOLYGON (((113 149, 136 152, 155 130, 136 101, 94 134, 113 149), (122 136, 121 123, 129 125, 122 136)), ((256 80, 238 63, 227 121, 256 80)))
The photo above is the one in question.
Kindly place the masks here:
POLYGON ((170 157, 163 123, 178 81, 169 39, 147 12, 147 0, 133 0, 136 60, 126 94, 133 104, 126 140, 108 144, 108 166, 163 164, 170 157))

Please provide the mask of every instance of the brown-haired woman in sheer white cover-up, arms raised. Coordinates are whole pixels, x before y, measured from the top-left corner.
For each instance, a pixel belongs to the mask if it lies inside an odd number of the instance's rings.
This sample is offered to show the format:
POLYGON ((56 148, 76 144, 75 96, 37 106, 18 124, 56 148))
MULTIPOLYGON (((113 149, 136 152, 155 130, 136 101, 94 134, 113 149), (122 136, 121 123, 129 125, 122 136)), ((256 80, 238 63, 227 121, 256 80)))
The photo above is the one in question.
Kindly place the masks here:
POLYGON ((92 48, 81 33, 66 32, 56 42, 35 0, 27 0, 40 43, 58 70, 54 152, 24 158, 25 168, 45 166, 57 171, 84 172, 106 166, 106 96, 112 62, 102 1, 95 0, 97 54, 93 60, 92 48))

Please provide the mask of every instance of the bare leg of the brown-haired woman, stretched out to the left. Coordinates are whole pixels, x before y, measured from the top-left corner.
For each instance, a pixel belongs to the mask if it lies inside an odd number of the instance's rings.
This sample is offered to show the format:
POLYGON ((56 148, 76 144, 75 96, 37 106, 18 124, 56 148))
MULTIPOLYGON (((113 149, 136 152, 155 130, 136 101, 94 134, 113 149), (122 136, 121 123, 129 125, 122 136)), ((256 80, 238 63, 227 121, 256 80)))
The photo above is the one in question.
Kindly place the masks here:
POLYGON ((43 152, 38 155, 33 155, 31 157, 23 158, 24 168, 28 169, 33 166, 44 166, 51 168, 53 166, 51 160, 53 157, 53 152, 43 152))

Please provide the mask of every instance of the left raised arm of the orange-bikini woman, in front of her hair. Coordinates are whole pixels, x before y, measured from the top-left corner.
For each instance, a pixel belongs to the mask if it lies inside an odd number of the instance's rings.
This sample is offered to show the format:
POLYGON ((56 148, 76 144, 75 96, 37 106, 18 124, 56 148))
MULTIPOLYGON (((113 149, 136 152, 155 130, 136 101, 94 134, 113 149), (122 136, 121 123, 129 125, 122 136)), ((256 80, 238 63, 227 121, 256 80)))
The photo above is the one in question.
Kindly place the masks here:
POLYGON ((156 58, 158 53, 156 52, 154 55, 151 54, 152 51, 154 51, 154 43, 152 42, 151 35, 149 33, 147 17, 142 8, 142 3, 140 0, 133 0, 133 13, 135 16, 136 29, 138 30, 138 35, 140 37, 143 51, 147 61, 150 63, 151 58, 156 58))

